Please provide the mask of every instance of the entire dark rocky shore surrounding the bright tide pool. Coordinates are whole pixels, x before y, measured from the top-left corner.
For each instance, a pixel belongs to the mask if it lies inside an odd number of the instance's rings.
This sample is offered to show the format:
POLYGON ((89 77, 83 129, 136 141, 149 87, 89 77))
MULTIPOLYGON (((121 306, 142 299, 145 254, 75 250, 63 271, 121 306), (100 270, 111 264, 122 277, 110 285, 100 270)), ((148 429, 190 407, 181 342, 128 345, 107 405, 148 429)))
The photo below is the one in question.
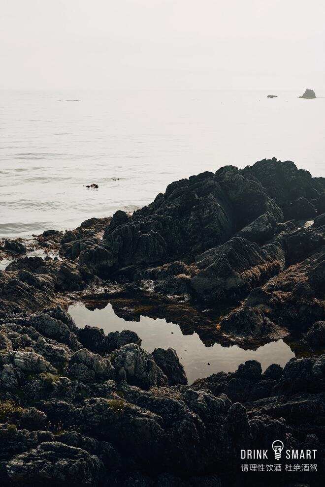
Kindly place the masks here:
POLYGON ((132 215, 46 231, 33 246, 54 258, 4 240, 0 485, 323 485, 324 190, 290 161, 263 160, 172 183, 132 215), (189 386, 173 350, 78 329, 65 311, 130 296, 160 315, 214 310, 210 331, 228 343, 285 337, 308 356, 189 386), (241 471, 241 449, 272 452, 274 440, 317 449, 317 472, 241 471))

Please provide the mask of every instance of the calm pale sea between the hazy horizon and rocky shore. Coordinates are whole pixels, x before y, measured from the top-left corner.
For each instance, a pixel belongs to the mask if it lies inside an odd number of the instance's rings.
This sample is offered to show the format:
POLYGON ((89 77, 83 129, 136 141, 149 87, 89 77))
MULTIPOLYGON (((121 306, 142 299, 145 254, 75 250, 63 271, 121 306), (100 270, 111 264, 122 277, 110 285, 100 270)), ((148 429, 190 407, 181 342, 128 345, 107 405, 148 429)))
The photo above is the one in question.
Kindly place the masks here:
POLYGON ((272 100, 272 91, 0 91, 0 237, 132 210, 225 164, 276 156, 324 176, 325 92, 298 99, 305 88, 272 100))

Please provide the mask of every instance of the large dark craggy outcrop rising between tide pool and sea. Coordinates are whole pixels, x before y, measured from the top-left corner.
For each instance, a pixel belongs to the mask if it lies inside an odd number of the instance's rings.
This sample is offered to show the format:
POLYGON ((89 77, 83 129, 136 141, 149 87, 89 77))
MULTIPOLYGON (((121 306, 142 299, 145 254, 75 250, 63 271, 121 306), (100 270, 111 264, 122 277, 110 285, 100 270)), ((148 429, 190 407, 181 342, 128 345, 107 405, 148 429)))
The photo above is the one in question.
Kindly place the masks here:
POLYGON ((284 336, 297 318, 305 332, 324 317, 324 188, 324 179, 276 158, 202 173, 170 184, 131 216, 117 212, 79 264, 162 296, 212 305, 248 298, 220 324, 230 335, 284 336), (263 286, 272 288, 271 311, 250 304, 249 293, 263 286))

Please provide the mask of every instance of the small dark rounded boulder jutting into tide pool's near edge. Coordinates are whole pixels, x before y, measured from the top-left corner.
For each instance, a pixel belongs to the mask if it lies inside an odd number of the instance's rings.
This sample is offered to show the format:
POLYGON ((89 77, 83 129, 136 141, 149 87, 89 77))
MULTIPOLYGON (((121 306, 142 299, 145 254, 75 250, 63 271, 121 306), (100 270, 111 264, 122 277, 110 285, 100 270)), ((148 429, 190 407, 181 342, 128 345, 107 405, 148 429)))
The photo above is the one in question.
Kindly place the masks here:
POLYGON ((162 372, 167 376, 168 384, 175 386, 176 384, 187 384, 187 377, 183 365, 179 362, 176 351, 172 348, 164 350, 163 348, 155 348, 152 356, 156 364, 162 369, 162 372))

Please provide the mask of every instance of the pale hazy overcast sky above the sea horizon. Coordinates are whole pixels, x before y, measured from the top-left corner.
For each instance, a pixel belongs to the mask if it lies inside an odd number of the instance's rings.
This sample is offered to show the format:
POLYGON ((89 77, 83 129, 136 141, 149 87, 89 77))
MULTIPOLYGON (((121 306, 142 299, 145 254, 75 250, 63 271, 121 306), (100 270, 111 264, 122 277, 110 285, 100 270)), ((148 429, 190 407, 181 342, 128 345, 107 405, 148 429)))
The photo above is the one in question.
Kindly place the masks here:
POLYGON ((324 89, 324 0, 0 0, 0 89, 324 89))

